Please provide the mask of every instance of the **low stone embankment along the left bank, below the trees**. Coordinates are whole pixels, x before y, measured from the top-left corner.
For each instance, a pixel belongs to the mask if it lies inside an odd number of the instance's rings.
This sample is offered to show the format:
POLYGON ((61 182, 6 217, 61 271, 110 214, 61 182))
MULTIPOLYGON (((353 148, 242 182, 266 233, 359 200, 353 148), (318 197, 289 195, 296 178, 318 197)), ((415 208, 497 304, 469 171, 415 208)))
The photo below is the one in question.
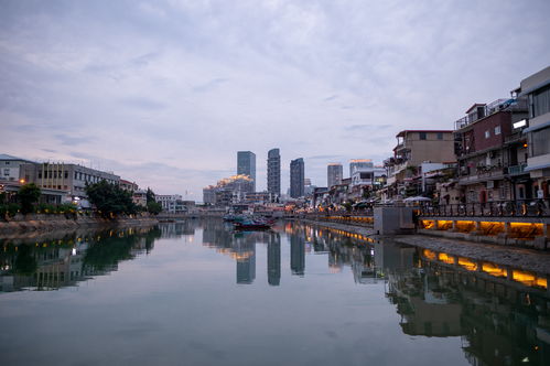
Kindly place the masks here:
POLYGON ((99 216, 67 215, 64 214, 32 214, 15 215, 8 220, 0 219, 0 235, 11 235, 28 232, 51 232, 74 229, 80 227, 108 227, 108 226, 140 226, 157 224, 154 216, 141 215, 136 217, 121 216, 116 219, 107 219, 99 216))

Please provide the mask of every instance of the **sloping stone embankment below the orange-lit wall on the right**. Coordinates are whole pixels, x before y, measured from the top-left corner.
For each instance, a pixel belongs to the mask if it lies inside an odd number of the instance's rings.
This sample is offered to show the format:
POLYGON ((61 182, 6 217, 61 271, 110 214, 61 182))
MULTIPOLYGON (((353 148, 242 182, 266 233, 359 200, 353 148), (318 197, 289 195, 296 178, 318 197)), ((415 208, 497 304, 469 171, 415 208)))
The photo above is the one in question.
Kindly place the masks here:
POLYGON ((382 237, 375 235, 373 228, 357 225, 300 219, 304 224, 345 230, 384 241, 393 240, 400 244, 465 257, 478 261, 489 261, 500 266, 533 271, 550 276, 550 252, 519 247, 503 247, 499 245, 473 243, 460 239, 430 237, 424 235, 398 235, 382 237))

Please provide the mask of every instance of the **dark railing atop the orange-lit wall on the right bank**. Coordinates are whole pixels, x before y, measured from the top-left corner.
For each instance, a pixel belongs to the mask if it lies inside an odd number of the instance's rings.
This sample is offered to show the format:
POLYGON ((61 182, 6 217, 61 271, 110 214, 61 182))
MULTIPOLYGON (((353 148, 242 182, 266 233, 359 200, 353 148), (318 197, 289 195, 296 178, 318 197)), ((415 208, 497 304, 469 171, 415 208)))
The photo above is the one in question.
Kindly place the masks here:
POLYGON ((423 204, 420 216, 550 217, 550 200, 495 201, 449 205, 423 204))

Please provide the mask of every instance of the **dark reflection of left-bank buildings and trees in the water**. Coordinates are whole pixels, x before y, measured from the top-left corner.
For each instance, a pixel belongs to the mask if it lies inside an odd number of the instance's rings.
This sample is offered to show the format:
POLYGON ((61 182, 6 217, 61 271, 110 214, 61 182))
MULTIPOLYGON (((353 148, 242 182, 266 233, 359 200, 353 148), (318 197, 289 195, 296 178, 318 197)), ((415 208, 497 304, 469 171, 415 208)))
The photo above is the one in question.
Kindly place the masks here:
POLYGON ((78 230, 31 239, 1 240, 0 291, 56 290, 118 270, 118 263, 149 254, 158 228, 78 230))

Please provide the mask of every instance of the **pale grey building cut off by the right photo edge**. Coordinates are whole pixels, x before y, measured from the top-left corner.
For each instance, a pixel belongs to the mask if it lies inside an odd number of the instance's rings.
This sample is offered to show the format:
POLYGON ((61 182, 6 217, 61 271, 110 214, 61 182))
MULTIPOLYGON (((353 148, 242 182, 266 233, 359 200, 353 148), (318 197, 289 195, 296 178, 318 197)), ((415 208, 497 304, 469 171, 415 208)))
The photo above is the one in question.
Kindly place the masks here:
POLYGON ((550 197, 550 66, 530 75, 520 83, 519 96, 526 96, 529 105, 528 136, 529 157, 525 171, 532 180, 537 198, 550 197))

